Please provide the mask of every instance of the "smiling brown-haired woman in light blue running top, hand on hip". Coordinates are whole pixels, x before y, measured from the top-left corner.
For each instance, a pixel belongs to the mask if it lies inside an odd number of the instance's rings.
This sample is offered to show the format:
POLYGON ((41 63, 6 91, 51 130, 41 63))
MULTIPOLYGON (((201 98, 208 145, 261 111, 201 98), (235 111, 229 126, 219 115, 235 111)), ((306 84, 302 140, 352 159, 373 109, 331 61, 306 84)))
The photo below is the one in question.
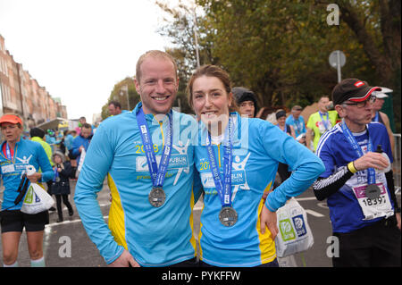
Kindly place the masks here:
POLYGON ((195 163, 205 190, 200 264, 278 266, 275 211, 305 191, 324 167, 271 122, 233 112, 230 89, 229 75, 214 65, 200 67, 188 82, 200 130, 195 163), (293 173, 265 200, 278 163, 288 164, 293 173))

